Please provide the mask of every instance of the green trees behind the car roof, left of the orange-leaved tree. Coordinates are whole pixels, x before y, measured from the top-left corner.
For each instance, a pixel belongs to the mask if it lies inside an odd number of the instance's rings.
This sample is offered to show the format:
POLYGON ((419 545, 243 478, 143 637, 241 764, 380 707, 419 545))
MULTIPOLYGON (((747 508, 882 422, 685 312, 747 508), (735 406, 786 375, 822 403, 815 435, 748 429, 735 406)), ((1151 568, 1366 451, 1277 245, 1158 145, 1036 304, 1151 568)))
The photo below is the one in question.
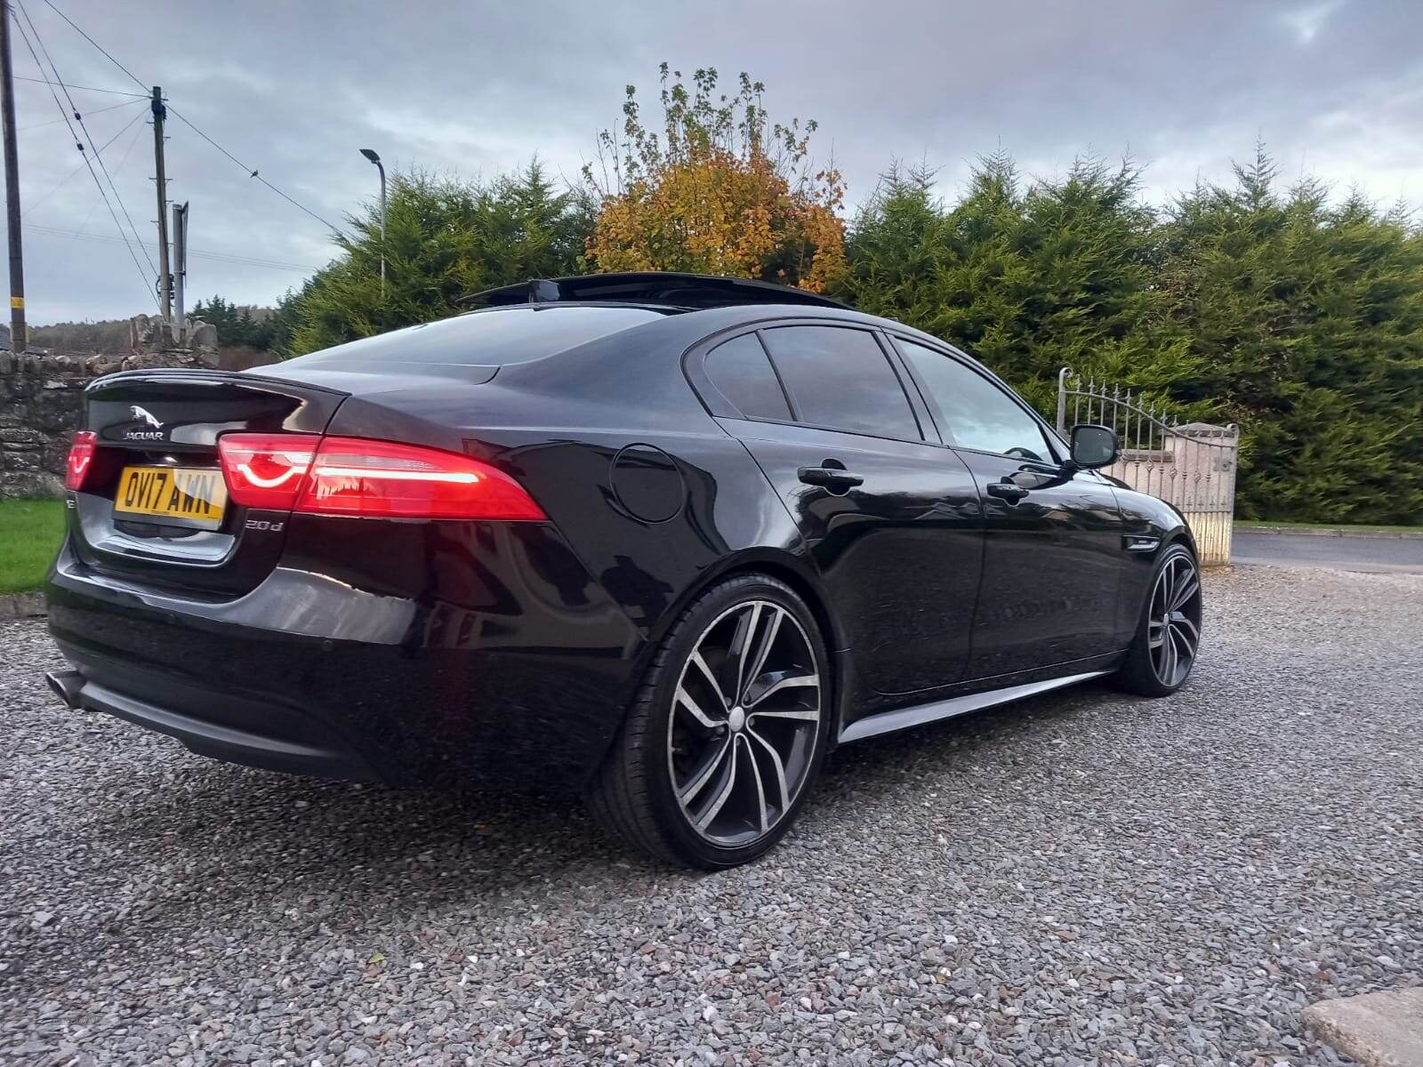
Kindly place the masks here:
POLYGON ((591 225, 586 198, 559 192, 538 159, 491 182, 396 175, 384 242, 379 205, 349 219, 342 255, 295 297, 286 351, 457 314, 468 310, 460 297, 491 286, 576 273, 591 225))

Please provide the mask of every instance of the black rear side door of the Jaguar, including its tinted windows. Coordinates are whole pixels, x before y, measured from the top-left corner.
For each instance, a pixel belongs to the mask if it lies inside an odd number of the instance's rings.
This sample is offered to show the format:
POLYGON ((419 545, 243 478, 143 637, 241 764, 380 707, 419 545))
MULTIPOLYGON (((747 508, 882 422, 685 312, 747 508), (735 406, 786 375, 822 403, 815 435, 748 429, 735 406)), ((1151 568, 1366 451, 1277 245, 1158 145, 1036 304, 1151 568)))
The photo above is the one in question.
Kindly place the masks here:
POLYGON ((734 405, 719 421, 795 518, 859 680, 885 694, 958 681, 982 558, 978 489, 966 464, 924 440, 928 413, 888 341, 778 324, 723 341, 703 367, 734 405))

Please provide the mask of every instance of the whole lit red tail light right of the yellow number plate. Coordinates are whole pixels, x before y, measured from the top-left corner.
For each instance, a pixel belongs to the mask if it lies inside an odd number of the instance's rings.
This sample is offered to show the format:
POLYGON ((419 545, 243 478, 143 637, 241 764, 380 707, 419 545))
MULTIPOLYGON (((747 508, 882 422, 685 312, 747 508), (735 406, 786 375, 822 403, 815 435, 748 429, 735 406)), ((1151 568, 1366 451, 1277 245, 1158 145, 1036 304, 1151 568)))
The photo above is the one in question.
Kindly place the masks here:
POLYGON ((544 521, 514 478, 438 448, 354 437, 225 434, 223 475, 236 504, 314 515, 544 521))

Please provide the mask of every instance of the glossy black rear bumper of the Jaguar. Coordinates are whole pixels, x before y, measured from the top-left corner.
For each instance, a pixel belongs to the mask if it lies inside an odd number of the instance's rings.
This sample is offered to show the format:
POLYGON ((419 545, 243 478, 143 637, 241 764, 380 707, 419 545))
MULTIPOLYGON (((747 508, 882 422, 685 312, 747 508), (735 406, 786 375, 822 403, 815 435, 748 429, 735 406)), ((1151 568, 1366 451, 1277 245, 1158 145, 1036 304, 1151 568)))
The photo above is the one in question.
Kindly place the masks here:
POLYGON ((578 790, 620 724, 640 640, 596 583, 564 573, 555 586, 521 565, 528 542, 556 536, 525 526, 485 542, 480 573, 499 595, 465 582, 467 603, 292 568, 236 600, 182 600, 95 573, 65 546, 50 632, 78 673, 74 704, 202 755, 397 785, 578 790))

